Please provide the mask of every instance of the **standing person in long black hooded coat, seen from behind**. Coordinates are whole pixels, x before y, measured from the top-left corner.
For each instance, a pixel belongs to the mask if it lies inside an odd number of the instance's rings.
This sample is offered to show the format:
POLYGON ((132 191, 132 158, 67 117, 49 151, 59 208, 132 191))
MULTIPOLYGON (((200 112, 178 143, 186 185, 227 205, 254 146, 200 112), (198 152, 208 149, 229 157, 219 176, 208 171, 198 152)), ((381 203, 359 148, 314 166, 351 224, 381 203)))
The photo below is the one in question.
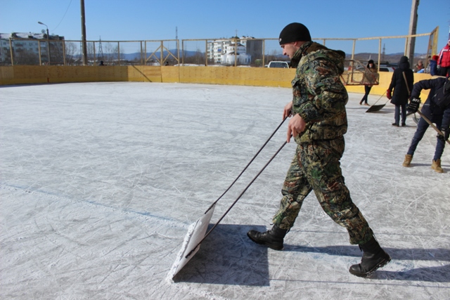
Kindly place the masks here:
POLYGON ((386 91, 386 96, 395 105, 395 122, 393 126, 399 126, 401 108, 401 126, 406 126, 406 104, 411 91, 413 90, 414 73, 409 68, 409 61, 406 56, 401 56, 399 67, 392 74, 391 84, 386 91), (406 81, 405 81, 406 77, 406 81), (406 83, 408 84, 406 86, 406 83), (394 92, 392 93, 392 89, 394 92))

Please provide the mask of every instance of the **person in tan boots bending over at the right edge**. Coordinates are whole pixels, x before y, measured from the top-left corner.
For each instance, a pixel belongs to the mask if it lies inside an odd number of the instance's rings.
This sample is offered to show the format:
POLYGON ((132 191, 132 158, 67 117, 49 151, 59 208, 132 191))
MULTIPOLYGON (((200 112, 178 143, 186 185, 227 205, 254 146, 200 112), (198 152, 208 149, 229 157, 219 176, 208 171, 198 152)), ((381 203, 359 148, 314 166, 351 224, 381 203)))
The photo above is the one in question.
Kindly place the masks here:
MULTIPOLYGON (((444 133, 444 136, 440 134, 437 135, 435 157, 433 157, 431 168, 437 171, 437 173, 444 173, 444 170, 441 167, 441 157, 450 133, 450 78, 439 77, 437 79, 421 80, 414 84, 411 93, 411 104, 408 107, 409 112, 417 112, 418 105, 420 104, 420 91, 423 89, 430 89, 430 93, 423 104, 422 114, 432 123, 435 123, 437 129, 444 133)), ((414 133, 409 150, 405 155, 403 162, 404 167, 411 166, 414 151, 416 151, 417 145, 423 138, 428 126, 430 126, 430 124, 421 117, 417 124, 416 133, 414 133)))

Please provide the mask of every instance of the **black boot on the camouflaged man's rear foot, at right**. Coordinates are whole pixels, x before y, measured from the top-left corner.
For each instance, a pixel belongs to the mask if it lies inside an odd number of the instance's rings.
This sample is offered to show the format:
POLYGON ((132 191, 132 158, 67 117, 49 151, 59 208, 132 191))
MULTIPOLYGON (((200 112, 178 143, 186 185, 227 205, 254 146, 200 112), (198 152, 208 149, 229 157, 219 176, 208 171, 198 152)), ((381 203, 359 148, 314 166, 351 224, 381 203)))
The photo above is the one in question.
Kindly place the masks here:
POLYGON ((358 277, 367 277, 391 261, 391 256, 381 249, 375 237, 372 237, 366 244, 360 244, 359 249, 364 251, 361 263, 353 265, 349 269, 350 273, 358 277))

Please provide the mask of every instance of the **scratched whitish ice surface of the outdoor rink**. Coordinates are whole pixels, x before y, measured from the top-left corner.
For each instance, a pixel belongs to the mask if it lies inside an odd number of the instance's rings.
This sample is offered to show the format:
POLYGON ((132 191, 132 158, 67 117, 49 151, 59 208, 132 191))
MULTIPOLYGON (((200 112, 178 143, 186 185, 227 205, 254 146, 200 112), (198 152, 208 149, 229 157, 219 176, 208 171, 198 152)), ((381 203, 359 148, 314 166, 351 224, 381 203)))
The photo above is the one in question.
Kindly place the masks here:
MULTIPOLYGON (((277 252, 270 228, 295 151, 286 145, 171 282, 188 227, 282 121, 290 89, 158 83, 0 87, 1 299, 450 299, 450 150, 430 169, 428 129, 349 95, 342 170, 392 261, 362 252, 314 193, 277 252)), ((370 96, 373 104, 379 96, 370 96)), ((382 98, 378 104, 385 103, 382 98)), ((218 203, 216 223, 285 141, 287 122, 218 203)), ((448 146, 448 145, 447 145, 448 146)))

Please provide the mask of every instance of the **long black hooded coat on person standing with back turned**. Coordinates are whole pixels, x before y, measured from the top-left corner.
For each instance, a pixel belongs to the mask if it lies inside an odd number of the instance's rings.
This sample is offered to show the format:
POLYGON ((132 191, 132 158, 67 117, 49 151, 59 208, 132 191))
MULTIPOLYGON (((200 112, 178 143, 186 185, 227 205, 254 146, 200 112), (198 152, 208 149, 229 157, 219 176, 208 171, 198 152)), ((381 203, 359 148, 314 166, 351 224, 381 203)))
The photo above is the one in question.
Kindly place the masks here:
POLYGON ((408 81, 409 91, 412 91, 414 84, 414 74, 413 70, 409 68, 409 62, 406 56, 401 57, 399 67, 394 70, 394 74, 392 74, 391 84, 389 86, 390 91, 394 89, 394 93, 392 93, 391 99, 391 103, 394 105, 403 105, 408 103, 409 93, 408 89, 406 89, 403 72, 406 75, 406 81, 408 81))

